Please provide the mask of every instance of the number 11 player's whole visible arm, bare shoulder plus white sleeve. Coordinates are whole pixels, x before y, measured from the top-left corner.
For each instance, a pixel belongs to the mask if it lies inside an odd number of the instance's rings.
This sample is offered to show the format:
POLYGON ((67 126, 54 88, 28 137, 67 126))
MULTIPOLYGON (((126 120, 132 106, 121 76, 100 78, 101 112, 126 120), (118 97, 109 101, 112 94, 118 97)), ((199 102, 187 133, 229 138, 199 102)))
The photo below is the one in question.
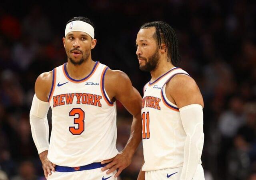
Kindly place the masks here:
POLYGON ((204 143, 203 98, 196 82, 190 76, 180 74, 168 82, 166 94, 169 100, 177 104, 186 132, 180 180, 192 179, 200 163, 204 143))

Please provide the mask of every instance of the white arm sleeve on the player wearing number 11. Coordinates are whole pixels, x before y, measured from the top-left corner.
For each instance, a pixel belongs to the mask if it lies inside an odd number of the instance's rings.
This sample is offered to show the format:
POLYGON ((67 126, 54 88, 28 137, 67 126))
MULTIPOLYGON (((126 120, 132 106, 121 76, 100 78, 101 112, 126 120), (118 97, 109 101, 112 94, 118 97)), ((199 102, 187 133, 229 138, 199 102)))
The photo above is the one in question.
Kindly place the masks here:
POLYGON ((184 162, 180 180, 192 180, 204 145, 203 110, 199 104, 191 104, 180 108, 180 117, 186 132, 184 162))

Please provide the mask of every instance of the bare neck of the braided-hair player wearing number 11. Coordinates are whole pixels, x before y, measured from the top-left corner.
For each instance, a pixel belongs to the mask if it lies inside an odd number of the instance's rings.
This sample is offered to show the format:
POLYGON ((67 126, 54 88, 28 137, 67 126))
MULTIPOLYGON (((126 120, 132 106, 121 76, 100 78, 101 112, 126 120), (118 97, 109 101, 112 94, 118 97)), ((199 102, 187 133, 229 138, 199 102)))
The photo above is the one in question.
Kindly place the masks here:
POLYGON ((157 78, 159 78, 161 75, 166 73, 171 68, 174 68, 174 66, 167 61, 167 58, 160 59, 159 64, 153 71, 150 71, 151 74, 151 80, 154 81, 157 78))

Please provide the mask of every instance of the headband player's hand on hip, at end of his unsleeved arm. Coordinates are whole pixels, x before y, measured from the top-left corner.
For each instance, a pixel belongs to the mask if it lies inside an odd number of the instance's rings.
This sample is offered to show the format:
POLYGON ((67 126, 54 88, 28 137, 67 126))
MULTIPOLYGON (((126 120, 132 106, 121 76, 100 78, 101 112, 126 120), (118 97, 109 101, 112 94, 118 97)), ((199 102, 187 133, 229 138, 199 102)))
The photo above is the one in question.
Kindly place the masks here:
POLYGON ((108 170, 107 174, 110 174, 111 172, 118 169, 118 171, 115 174, 115 178, 116 178, 120 175, 122 170, 124 170, 127 166, 131 164, 131 162, 132 162, 131 154, 129 152, 121 151, 114 158, 102 161, 101 164, 106 164, 106 163, 108 164, 104 166, 101 170, 102 171, 108 170))

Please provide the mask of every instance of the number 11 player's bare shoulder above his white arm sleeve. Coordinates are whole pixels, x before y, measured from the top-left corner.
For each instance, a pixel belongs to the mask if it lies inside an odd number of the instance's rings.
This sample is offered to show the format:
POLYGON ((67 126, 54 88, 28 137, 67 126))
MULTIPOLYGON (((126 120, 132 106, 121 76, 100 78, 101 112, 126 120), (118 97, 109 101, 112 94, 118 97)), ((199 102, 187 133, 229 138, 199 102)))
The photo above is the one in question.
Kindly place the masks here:
POLYGON ((185 74, 177 74, 167 84, 166 91, 174 99, 179 108, 190 105, 203 105, 202 94, 196 81, 185 74))

